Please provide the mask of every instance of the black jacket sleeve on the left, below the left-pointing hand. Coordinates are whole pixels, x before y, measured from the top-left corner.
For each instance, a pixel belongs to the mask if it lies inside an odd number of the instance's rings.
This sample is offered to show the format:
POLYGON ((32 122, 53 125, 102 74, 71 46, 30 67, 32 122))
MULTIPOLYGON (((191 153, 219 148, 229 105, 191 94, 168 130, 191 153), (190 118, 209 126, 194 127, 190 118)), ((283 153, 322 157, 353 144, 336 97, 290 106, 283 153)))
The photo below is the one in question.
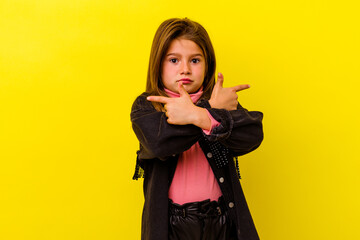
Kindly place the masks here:
POLYGON ((141 144, 139 158, 166 160, 189 149, 202 137, 201 129, 195 125, 169 124, 165 113, 156 111, 146 97, 143 93, 135 100, 130 114, 132 128, 141 144))

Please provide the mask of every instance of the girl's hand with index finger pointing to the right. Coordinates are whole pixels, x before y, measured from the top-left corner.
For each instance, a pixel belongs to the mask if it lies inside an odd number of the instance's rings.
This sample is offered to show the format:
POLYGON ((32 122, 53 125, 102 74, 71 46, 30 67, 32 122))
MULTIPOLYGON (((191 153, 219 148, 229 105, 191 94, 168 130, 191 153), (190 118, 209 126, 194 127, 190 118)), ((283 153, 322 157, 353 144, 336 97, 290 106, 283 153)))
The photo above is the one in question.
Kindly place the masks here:
POLYGON ((236 92, 250 87, 248 84, 237 85, 235 87, 223 88, 224 76, 219 73, 218 80, 211 93, 209 100, 212 108, 223 108, 226 110, 236 110, 238 105, 238 95, 236 92))

